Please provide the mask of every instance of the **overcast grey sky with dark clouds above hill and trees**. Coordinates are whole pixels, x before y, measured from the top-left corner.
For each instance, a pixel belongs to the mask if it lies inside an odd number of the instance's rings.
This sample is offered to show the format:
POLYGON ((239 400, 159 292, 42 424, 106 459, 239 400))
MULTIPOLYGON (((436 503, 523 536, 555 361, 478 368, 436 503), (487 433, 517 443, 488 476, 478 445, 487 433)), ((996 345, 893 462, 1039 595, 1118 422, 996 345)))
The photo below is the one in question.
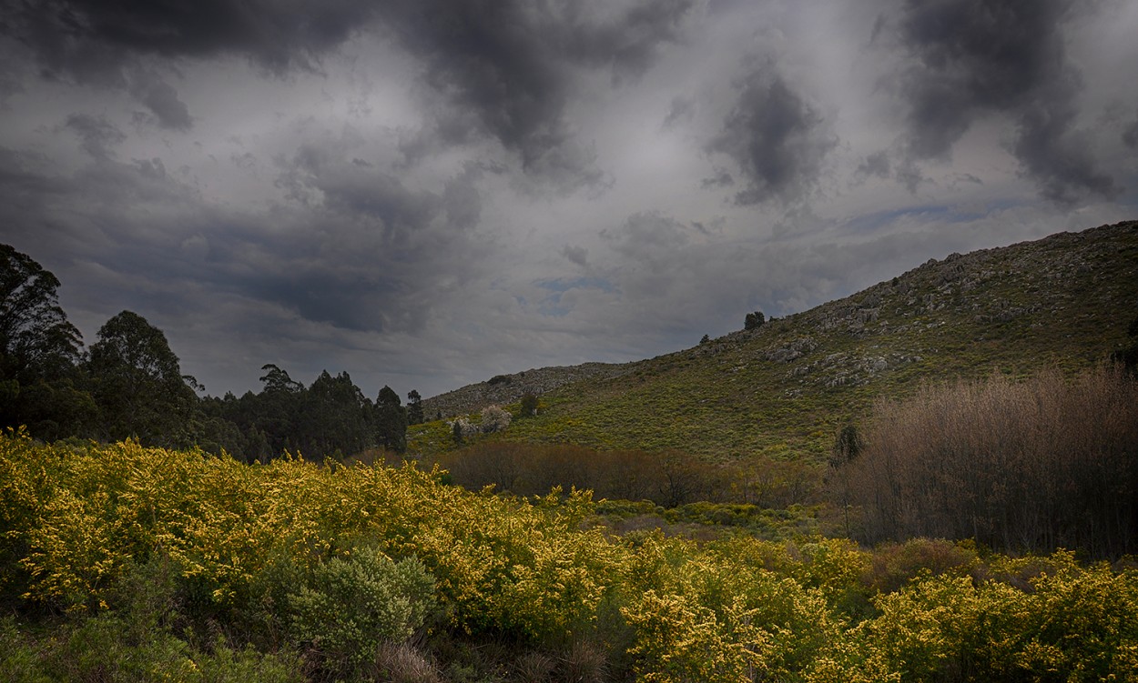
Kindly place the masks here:
POLYGON ((0 0, 0 242, 428 397, 1136 218, 1132 0, 0 0))

